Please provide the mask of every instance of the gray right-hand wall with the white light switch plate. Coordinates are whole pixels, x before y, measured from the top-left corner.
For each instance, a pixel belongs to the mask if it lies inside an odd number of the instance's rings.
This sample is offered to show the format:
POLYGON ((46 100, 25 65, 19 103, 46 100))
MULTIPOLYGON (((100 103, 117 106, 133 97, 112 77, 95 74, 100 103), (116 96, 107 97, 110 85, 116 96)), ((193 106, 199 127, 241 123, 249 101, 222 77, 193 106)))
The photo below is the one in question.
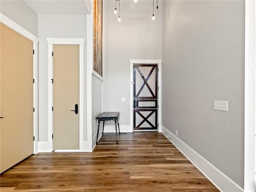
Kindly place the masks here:
POLYGON ((245 2, 163 7, 162 125, 243 188, 245 2))

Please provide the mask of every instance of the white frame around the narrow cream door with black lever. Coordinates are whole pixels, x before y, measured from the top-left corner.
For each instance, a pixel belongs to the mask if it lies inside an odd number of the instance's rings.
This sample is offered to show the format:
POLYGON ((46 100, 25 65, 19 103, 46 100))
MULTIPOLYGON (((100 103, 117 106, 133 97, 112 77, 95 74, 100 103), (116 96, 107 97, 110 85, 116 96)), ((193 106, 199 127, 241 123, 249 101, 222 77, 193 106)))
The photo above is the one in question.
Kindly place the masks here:
MULTIPOLYGON (((52 141, 52 50, 54 44, 79 45, 79 150, 56 150, 58 152, 83 151, 84 135, 84 38, 46 38, 48 42, 48 141, 52 141)), ((53 150, 52 142, 48 142, 53 150)))

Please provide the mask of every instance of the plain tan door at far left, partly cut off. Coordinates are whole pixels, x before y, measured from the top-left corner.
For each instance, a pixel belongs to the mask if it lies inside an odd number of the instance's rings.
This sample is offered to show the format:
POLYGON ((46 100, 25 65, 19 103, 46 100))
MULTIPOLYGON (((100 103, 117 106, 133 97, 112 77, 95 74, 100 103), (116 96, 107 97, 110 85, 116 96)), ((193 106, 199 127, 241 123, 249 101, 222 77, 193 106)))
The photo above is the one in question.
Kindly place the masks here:
POLYGON ((33 42, 0 24, 1 173, 34 152, 33 42))

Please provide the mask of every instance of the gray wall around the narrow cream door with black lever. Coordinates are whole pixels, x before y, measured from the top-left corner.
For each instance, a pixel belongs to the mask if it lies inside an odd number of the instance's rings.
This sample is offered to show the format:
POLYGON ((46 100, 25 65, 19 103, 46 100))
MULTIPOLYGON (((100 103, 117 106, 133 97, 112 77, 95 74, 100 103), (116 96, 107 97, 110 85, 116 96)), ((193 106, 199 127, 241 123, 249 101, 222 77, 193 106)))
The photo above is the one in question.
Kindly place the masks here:
MULTIPOLYGON (((46 38, 86 38, 86 16, 38 15, 38 109, 39 141, 48 140, 48 43, 46 38)), ((84 42, 86 66, 86 42, 84 42)), ((86 67, 84 67, 84 116, 86 117, 86 67)), ((86 118, 84 118, 86 133, 86 118)), ((85 134, 86 136, 86 134, 85 134)))

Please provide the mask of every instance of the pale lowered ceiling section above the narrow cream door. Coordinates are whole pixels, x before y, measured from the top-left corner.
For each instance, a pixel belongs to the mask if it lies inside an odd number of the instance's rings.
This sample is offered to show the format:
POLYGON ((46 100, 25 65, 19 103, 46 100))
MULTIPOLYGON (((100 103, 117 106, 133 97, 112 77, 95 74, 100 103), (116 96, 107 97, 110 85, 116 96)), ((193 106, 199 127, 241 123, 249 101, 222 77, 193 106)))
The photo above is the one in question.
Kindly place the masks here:
POLYGON ((90 0, 24 0, 37 14, 90 14, 90 0))

